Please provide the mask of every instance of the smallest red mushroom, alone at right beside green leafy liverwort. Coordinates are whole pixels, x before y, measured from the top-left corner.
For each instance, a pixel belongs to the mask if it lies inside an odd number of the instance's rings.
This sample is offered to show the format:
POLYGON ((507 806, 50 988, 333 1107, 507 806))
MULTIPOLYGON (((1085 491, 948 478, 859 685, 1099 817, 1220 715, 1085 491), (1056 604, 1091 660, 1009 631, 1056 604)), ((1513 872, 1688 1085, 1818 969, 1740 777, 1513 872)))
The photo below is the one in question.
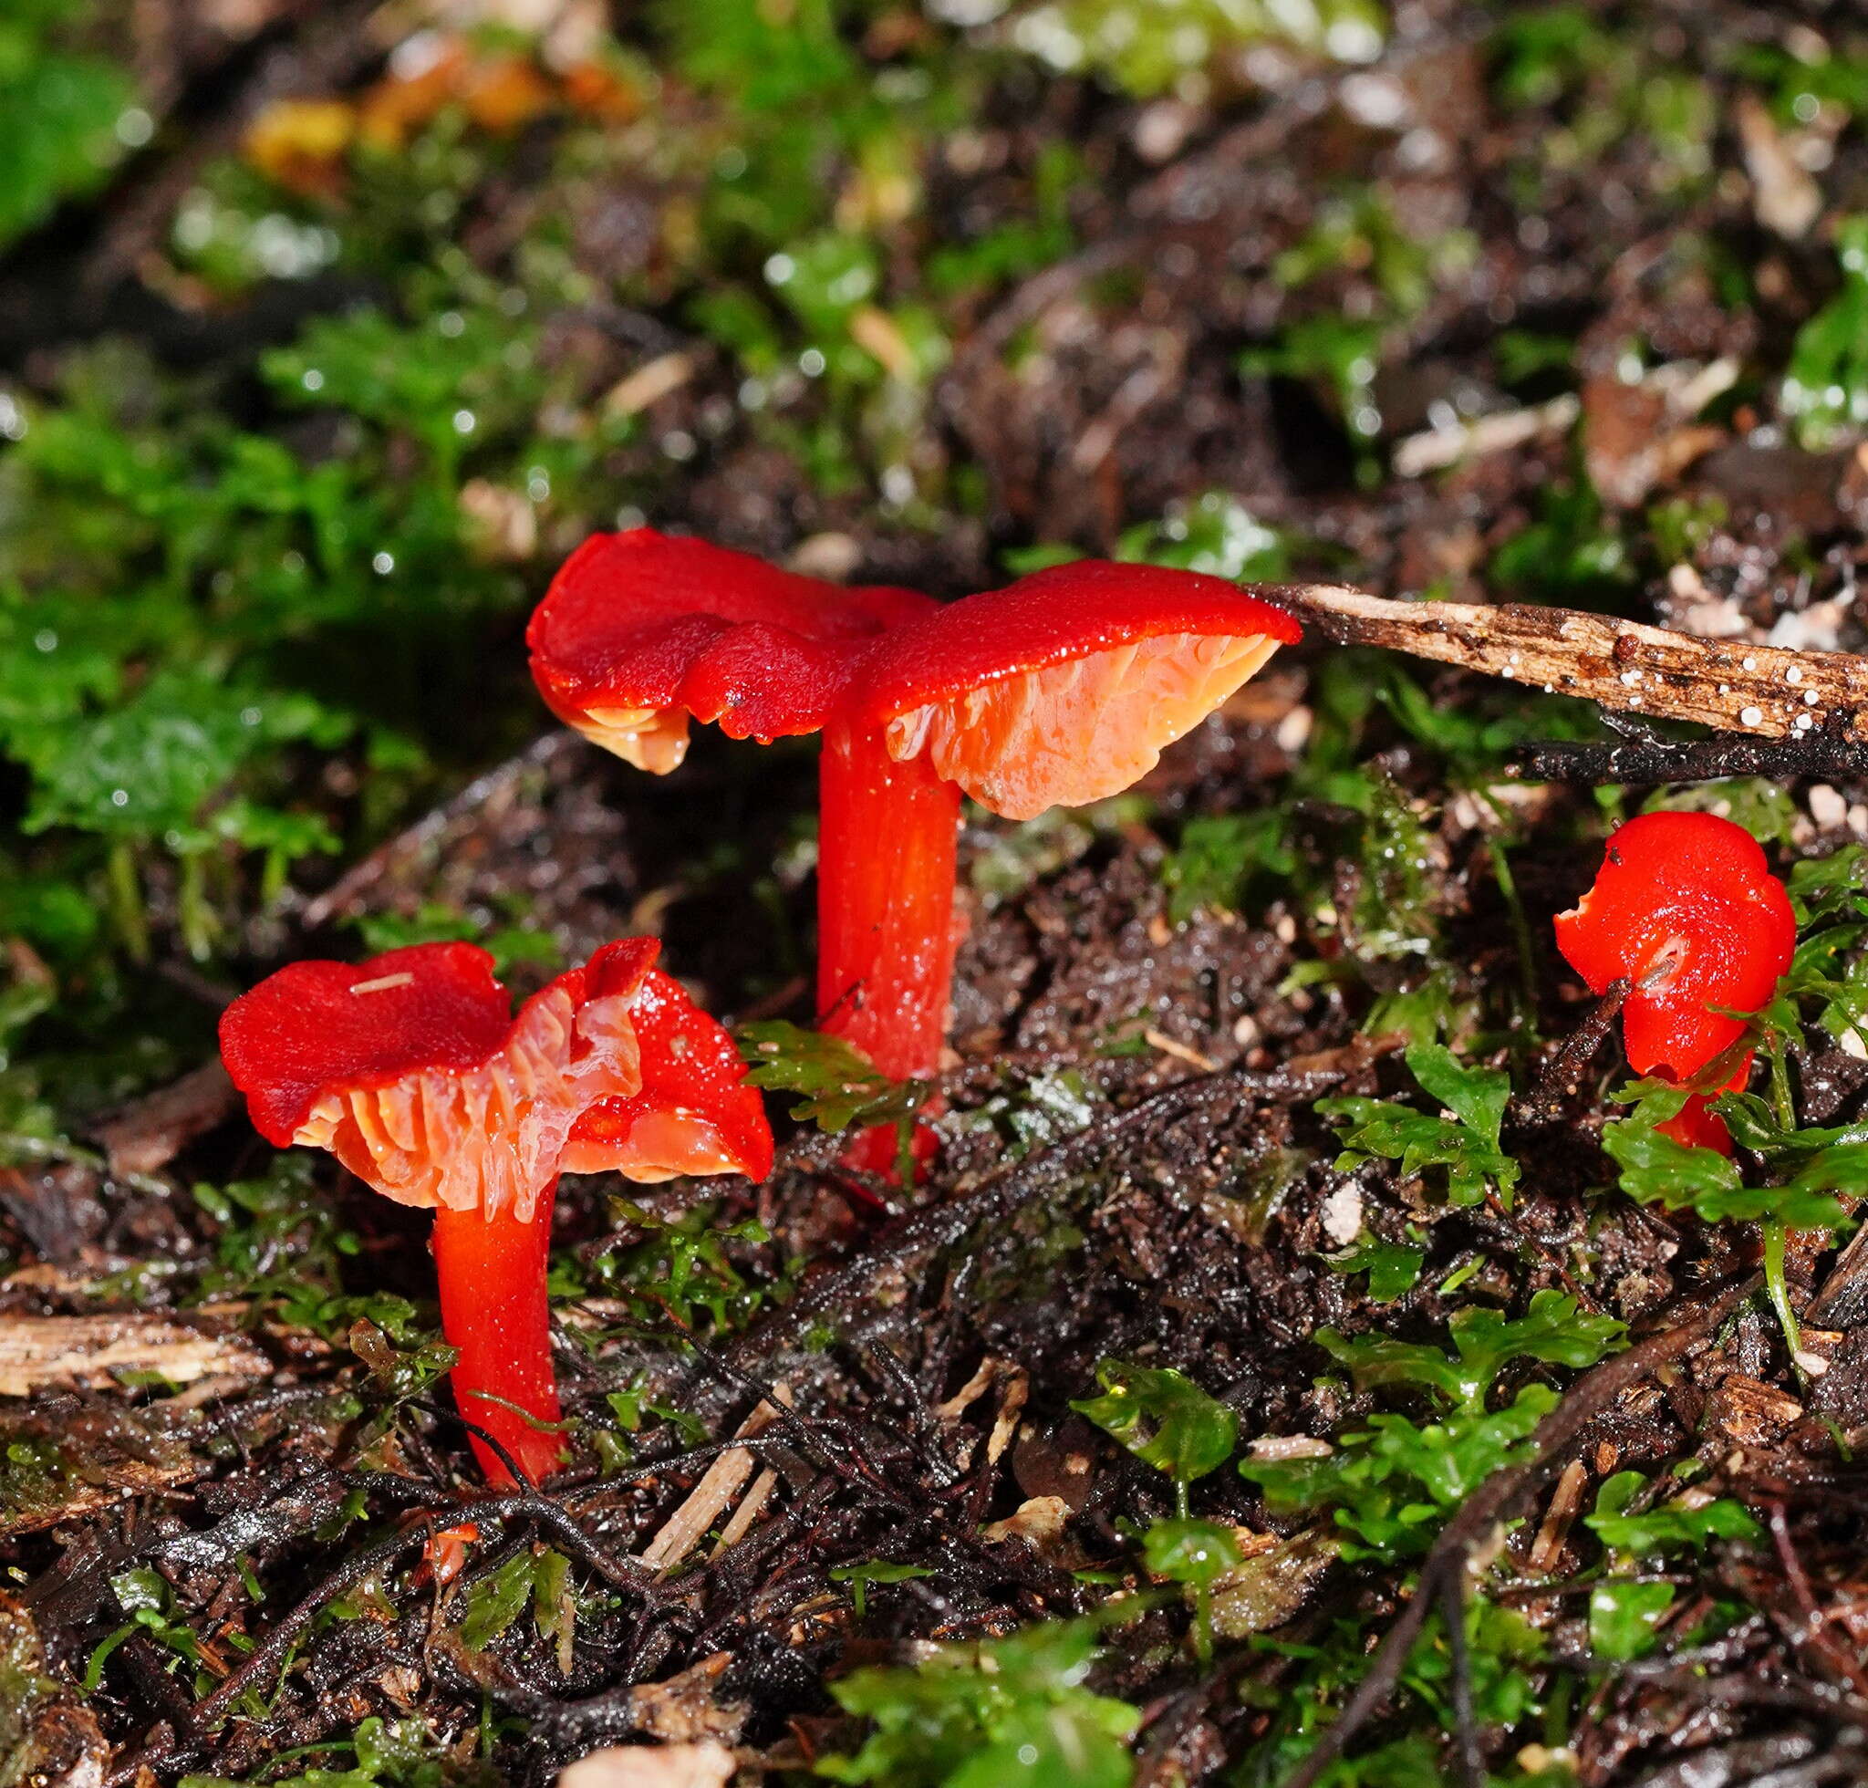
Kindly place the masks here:
MULTIPOLYGON (((1595 886, 1556 915, 1556 945, 1590 990, 1627 979, 1621 1039, 1636 1074, 1692 1080, 1745 1035, 1797 945, 1797 917, 1758 841, 1711 813, 1644 813, 1618 828, 1595 886)), ((1750 1052, 1720 1091, 1743 1087, 1750 1052)), ((1694 1095, 1663 1132, 1732 1153, 1694 1095)))

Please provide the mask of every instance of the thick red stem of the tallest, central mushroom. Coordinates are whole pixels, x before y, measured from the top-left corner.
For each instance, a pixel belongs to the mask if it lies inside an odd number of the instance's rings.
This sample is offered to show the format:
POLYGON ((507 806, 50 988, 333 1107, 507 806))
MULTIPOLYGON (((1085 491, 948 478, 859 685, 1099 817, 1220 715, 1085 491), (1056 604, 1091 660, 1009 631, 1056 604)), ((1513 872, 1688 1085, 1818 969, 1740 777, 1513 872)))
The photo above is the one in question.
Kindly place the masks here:
POLYGON ((818 766, 818 1011, 891 1080, 932 1074, 953 990, 960 790, 876 731, 829 727, 818 766))

